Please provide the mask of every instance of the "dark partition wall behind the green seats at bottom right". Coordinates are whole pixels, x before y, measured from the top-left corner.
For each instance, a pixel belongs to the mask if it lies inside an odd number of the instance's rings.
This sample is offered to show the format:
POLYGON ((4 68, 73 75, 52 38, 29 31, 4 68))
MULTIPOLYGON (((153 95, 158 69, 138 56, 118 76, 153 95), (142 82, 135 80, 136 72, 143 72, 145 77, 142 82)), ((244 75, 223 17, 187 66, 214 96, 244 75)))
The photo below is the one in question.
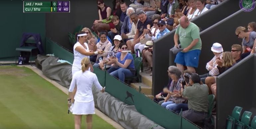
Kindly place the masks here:
POLYGON ((255 55, 252 54, 234 65, 217 78, 216 126, 222 129, 227 115, 235 106, 256 115, 255 98, 255 55))

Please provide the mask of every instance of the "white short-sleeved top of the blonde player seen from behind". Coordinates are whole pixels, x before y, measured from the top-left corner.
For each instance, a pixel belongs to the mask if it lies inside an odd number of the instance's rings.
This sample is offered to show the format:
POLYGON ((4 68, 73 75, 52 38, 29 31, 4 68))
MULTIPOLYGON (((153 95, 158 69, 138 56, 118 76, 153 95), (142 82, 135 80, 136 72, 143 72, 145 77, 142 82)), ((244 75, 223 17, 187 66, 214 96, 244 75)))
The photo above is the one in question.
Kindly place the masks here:
POLYGON ((75 74, 72 77, 72 81, 68 90, 69 92, 73 92, 75 84, 76 84, 77 90, 76 90, 74 99, 77 102, 93 101, 93 95, 92 95, 93 85, 96 86, 96 88, 99 91, 102 90, 102 87, 99 84, 96 74, 88 70, 85 72, 82 72, 82 70, 75 72, 75 74))

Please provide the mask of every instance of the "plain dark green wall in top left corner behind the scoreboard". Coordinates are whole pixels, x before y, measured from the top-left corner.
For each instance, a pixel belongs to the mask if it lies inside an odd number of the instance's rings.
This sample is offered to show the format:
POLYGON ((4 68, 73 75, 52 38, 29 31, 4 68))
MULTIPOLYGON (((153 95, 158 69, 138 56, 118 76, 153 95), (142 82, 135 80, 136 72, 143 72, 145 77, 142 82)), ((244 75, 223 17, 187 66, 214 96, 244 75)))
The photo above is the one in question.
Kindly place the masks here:
POLYGON ((19 55, 23 32, 40 33, 45 47, 45 13, 23 13, 22 0, 8 0, 1 1, 0 16, 0 58, 19 55))

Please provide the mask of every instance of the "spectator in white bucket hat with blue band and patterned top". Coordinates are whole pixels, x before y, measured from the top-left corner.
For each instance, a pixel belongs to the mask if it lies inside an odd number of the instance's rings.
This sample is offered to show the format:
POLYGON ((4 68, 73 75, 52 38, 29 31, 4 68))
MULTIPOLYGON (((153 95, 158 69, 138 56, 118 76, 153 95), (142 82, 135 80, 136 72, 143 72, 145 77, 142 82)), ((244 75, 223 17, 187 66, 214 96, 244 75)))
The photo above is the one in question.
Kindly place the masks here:
POLYGON ((223 48, 220 43, 213 43, 211 47, 211 51, 214 54, 214 57, 206 64, 206 69, 209 71, 209 73, 200 75, 200 79, 202 83, 205 83, 205 78, 210 76, 217 76, 219 75, 219 70, 217 68, 218 64, 216 62, 217 58, 222 58, 223 54, 223 48))

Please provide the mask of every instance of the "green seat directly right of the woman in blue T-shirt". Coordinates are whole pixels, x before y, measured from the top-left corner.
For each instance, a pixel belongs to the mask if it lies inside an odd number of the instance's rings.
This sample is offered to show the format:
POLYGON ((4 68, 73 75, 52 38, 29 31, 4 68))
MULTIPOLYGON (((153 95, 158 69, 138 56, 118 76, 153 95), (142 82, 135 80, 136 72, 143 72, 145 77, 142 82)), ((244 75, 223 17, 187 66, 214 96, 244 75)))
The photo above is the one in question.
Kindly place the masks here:
POLYGON ((134 77, 127 77, 125 78, 125 80, 127 81, 131 81, 133 79, 137 79, 139 80, 139 82, 141 82, 141 77, 140 77, 140 67, 142 64, 142 57, 136 57, 134 59, 134 66, 135 66, 135 76, 134 77))

